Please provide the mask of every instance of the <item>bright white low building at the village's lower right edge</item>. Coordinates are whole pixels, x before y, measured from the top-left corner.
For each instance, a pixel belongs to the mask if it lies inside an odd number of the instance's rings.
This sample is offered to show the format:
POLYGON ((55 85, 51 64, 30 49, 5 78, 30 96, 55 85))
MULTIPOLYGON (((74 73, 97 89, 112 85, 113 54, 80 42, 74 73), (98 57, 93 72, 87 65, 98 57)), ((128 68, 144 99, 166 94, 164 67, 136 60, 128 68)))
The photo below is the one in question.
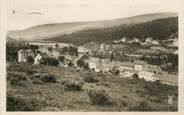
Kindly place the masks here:
POLYGON ((148 72, 148 71, 140 71, 138 73, 139 79, 144 79, 145 81, 155 82, 159 80, 157 76, 155 76, 155 73, 148 72))

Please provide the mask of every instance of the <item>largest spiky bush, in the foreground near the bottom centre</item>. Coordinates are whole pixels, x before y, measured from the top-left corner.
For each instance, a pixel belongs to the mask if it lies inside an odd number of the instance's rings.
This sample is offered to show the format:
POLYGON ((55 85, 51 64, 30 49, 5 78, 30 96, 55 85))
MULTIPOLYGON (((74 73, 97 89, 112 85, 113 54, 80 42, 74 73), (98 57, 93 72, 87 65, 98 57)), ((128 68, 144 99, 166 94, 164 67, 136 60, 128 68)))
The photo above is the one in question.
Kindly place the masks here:
POLYGON ((105 90, 95 90, 90 89, 87 90, 87 94, 89 96, 90 102, 92 105, 111 105, 110 98, 105 90))

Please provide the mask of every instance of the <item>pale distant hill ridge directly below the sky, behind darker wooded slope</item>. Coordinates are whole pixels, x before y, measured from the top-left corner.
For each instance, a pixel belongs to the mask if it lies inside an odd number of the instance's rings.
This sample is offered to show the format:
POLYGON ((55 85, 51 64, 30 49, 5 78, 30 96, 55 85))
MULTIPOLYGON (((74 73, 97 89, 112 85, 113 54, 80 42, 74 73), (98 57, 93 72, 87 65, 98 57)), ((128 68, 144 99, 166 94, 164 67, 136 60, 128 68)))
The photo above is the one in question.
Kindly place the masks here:
POLYGON ((57 41, 56 38, 59 38, 62 35, 66 34, 70 35, 79 31, 112 28, 125 24, 126 25, 139 24, 168 17, 177 17, 177 14, 155 13, 104 21, 53 23, 53 24, 38 25, 24 30, 8 31, 7 34, 9 37, 18 40, 28 40, 28 41, 37 39, 52 40, 52 38, 54 38, 54 41, 57 41))

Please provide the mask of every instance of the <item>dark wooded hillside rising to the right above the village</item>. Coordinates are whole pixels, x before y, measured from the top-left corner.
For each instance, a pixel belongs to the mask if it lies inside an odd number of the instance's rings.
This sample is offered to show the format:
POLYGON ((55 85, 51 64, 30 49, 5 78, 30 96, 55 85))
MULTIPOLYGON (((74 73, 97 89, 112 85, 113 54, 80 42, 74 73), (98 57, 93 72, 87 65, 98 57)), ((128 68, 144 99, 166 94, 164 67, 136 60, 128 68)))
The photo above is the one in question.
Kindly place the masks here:
POLYGON ((178 31, 178 18, 171 17, 165 19, 157 19, 150 22, 120 25, 117 27, 85 30, 72 34, 66 34, 47 40, 55 42, 69 42, 74 44, 85 44, 88 42, 108 42, 127 37, 134 37, 144 40, 147 37, 152 37, 157 40, 165 40, 178 31))

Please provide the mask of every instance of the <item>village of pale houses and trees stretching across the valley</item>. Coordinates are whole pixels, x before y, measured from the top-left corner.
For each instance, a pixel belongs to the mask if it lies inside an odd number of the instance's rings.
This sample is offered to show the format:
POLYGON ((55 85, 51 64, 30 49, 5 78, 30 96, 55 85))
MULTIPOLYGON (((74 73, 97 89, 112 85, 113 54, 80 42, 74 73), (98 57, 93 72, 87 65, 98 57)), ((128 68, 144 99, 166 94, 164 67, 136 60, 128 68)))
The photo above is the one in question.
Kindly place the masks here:
POLYGON ((173 63, 167 55, 178 55, 178 49, 176 44, 164 44, 167 42, 152 38, 130 40, 126 37, 112 43, 90 42, 80 46, 46 41, 24 42, 25 46, 37 48, 19 49, 17 60, 21 63, 30 60, 33 64, 53 63, 51 65, 74 67, 80 71, 89 69, 96 73, 114 74, 122 79, 138 78, 177 86, 178 72, 171 71, 173 63))

